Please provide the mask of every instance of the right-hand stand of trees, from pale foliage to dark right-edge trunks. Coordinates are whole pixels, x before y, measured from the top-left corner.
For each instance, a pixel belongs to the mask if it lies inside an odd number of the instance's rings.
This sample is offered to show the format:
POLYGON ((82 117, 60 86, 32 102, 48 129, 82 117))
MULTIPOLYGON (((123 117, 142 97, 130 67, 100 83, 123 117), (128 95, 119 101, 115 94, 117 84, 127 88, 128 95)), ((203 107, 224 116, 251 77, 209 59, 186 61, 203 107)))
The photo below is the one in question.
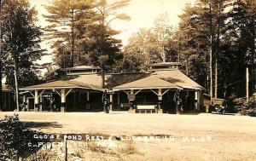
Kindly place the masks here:
POLYGON ((179 18, 172 26, 168 15, 160 14, 154 27, 133 34, 124 49, 124 70, 179 61, 211 97, 233 100, 246 95, 248 69, 250 95, 255 92, 255 1, 197 0, 179 18))

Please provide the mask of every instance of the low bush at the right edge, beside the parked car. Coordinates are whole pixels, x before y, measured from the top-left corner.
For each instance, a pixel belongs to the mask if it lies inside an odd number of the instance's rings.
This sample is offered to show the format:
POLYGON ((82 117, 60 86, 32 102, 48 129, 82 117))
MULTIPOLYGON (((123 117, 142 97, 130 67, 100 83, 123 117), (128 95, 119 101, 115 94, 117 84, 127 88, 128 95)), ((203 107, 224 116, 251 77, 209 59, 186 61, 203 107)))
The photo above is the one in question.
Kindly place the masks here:
POLYGON ((256 95, 248 98, 237 98, 234 100, 235 108, 241 115, 256 117, 256 95))

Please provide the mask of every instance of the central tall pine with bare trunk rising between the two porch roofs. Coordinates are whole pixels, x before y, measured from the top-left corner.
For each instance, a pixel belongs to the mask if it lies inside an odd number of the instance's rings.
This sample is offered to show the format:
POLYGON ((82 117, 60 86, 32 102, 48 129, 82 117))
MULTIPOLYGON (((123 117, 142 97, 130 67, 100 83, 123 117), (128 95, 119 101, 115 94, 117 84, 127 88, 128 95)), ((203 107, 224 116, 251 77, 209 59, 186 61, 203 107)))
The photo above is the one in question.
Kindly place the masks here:
POLYGON ((99 15, 99 26, 96 27, 94 32, 96 39, 95 49, 90 52, 88 57, 93 65, 101 66, 102 88, 105 87, 106 70, 122 57, 119 52, 121 41, 113 37, 119 32, 113 30, 110 24, 113 20, 130 20, 128 15, 119 13, 119 9, 125 8, 129 2, 130 0, 121 0, 108 3, 106 0, 99 0, 94 4, 99 15))

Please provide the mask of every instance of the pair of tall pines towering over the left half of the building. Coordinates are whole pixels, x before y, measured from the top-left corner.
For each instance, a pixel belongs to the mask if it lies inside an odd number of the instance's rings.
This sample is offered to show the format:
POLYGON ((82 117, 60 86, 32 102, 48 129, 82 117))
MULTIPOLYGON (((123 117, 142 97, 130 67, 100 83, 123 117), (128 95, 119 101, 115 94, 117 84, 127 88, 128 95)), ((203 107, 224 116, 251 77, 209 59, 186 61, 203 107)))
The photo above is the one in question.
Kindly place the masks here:
POLYGON ((119 32, 113 30, 110 23, 130 19, 119 13, 129 2, 55 0, 46 6, 49 15, 44 17, 50 23, 46 27, 47 38, 54 42, 55 64, 61 68, 84 64, 101 66, 104 80, 104 73, 113 72, 113 65, 122 59, 121 41, 114 38, 119 32))

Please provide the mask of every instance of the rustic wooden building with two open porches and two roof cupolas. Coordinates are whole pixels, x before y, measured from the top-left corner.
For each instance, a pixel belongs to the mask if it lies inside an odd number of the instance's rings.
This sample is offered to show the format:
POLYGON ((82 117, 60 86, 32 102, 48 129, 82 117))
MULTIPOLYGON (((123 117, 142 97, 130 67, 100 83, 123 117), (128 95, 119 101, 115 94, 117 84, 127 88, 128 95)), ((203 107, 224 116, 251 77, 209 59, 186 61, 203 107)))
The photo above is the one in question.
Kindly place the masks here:
MULTIPOLYGON (((184 112, 200 111, 204 88, 178 66, 166 62, 148 65, 147 72, 106 74, 110 111, 172 113, 177 95, 184 112)), ((29 111, 102 111, 105 89, 100 68, 77 66, 65 71, 67 75, 58 81, 21 88, 29 111)))

